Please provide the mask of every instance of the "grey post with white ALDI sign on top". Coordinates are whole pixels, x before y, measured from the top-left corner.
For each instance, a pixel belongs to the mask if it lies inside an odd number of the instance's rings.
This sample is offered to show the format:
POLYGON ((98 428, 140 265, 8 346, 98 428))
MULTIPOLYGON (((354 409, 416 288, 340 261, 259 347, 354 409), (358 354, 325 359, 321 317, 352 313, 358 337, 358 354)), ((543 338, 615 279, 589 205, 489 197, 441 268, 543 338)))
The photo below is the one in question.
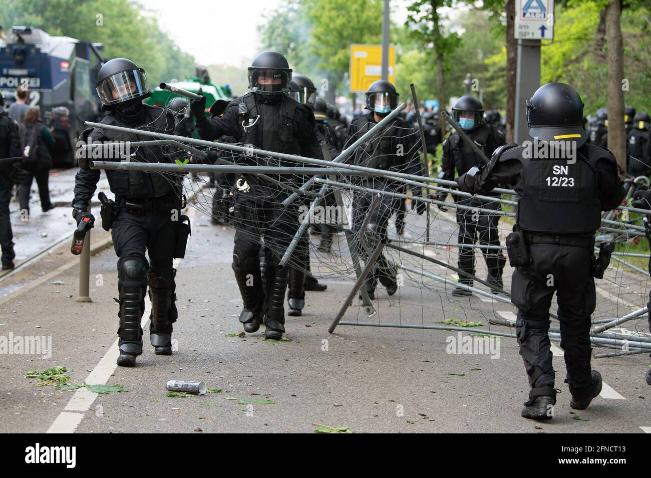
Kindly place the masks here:
POLYGON ((540 87, 540 40, 554 37, 554 0, 516 0, 515 37, 518 39, 516 117, 514 139, 529 139, 527 98, 540 87))

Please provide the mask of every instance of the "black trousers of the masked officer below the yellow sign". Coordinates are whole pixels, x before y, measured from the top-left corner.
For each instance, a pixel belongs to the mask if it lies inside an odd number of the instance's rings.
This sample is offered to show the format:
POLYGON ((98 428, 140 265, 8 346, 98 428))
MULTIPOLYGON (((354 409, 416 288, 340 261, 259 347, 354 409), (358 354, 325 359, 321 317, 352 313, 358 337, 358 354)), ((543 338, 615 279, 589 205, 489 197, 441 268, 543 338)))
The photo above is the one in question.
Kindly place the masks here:
MULTIPOLYGON (((355 193, 353 197, 353 227, 352 230, 355 234, 355 246, 357 247, 357 253, 361 259, 367 260, 368 253, 364 247, 359 244, 357 237, 359 231, 367 218, 368 210, 370 205, 373 203, 373 200, 376 197, 376 193, 355 193)), ((388 195, 380 195, 380 201, 376 205, 373 214, 371 214, 368 221, 368 226, 364 234, 364 238, 367 242, 367 246, 373 251, 380 240, 387 238, 387 225, 389 225, 389 218, 393 212, 393 197, 388 195)), ((395 269, 389 266, 387 258, 383 253, 380 253, 378 260, 376 261, 373 270, 368 275, 366 280, 366 288, 368 291, 372 292, 375 290, 378 285, 378 280, 380 283, 389 287, 389 285, 396 282, 396 272, 395 269)))

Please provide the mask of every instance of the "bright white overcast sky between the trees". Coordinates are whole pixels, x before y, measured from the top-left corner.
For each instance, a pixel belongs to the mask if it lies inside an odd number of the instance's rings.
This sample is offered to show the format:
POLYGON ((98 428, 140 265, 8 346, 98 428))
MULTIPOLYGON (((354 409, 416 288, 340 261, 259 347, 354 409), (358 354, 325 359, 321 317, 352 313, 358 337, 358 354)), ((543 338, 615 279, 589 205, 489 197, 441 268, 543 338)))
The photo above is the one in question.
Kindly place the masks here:
MULTIPOLYGON (((140 0, 178 46, 200 64, 241 66, 259 52, 257 27, 262 14, 274 10, 283 0, 140 0)), ((354 0, 352 0, 354 1, 354 0)), ((401 25, 406 19, 404 0, 391 0, 391 20, 401 25)))

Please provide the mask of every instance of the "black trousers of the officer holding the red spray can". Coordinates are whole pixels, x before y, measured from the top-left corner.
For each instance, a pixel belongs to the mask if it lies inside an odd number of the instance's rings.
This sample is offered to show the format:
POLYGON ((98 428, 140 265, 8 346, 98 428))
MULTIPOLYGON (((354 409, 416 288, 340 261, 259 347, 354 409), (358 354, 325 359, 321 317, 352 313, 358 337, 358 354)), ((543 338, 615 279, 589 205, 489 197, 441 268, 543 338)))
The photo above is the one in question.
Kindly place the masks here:
POLYGON ((120 258, 118 335, 121 339, 140 340, 143 333, 140 322, 145 312, 147 285, 152 301, 150 332, 172 332, 172 324, 178 316, 174 305, 176 270, 172 263, 179 218, 179 210, 152 210, 138 215, 122 209, 113 221, 111 237, 115 253, 120 258))

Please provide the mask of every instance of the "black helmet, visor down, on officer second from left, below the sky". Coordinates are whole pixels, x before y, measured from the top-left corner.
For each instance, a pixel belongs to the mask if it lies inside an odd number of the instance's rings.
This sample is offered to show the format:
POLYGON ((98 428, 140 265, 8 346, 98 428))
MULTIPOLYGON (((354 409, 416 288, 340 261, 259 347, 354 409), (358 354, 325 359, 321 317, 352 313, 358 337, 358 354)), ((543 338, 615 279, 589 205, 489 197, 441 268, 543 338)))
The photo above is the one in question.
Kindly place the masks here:
MULTIPOLYGON (((249 88, 260 94, 283 94, 292 81, 292 68, 277 51, 263 51, 249 66, 249 88)), ((298 84, 298 83, 297 83, 298 84)))

